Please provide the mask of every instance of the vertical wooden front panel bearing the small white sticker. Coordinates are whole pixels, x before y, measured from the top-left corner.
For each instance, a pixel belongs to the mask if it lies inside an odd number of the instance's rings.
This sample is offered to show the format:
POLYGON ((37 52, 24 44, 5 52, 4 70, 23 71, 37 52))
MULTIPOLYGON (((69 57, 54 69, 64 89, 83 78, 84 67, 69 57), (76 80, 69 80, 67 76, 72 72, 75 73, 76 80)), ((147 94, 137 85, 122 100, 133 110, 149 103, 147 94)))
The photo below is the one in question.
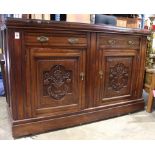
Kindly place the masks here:
POLYGON ((8 66, 8 72, 10 72, 10 95, 11 106, 13 110, 13 119, 23 119, 23 78, 22 78, 22 32, 18 30, 8 31, 9 40, 9 57, 10 66, 8 66), (19 37, 16 38, 16 34, 19 37))

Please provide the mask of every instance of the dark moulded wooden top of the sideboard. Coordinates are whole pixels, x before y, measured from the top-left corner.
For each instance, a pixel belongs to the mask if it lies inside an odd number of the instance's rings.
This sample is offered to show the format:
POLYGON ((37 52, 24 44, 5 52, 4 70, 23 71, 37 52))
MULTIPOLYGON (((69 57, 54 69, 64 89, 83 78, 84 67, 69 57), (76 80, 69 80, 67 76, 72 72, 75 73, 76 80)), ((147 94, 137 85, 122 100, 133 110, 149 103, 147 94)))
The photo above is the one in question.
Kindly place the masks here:
POLYGON ((91 32, 122 32, 149 35, 150 31, 146 29, 123 28, 110 26, 105 24, 86 24, 77 22, 64 21, 48 21, 37 19, 18 19, 6 18, 1 24, 1 29, 7 28, 24 28, 24 29, 57 29, 57 30, 76 30, 76 31, 91 31, 91 32))

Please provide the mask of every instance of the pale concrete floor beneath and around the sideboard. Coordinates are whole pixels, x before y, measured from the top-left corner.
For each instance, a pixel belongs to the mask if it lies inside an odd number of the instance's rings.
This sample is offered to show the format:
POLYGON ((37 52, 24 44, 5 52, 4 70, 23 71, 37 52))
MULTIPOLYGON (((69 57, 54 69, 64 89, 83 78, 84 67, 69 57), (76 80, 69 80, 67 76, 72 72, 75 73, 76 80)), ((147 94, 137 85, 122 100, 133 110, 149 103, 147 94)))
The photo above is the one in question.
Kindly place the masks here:
MULTIPOLYGON (((145 94, 146 95, 146 94, 145 94)), ((147 96, 144 96, 145 100, 147 96)), ((107 119, 87 125, 38 134, 20 139, 37 140, 106 140, 106 139, 155 139, 155 111, 136 112, 112 119, 107 119)), ((0 139, 11 140, 11 128, 9 125, 6 102, 0 97, 0 139)))

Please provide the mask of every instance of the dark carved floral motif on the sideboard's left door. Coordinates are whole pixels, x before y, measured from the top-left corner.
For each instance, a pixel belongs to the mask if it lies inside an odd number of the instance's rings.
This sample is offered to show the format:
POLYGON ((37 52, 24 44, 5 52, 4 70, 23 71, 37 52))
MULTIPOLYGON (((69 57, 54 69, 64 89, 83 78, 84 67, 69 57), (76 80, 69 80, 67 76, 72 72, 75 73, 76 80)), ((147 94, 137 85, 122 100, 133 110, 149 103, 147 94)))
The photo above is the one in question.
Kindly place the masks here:
POLYGON ((62 65, 55 65, 43 72, 43 85, 48 96, 59 100, 70 91, 71 71, 62 65))

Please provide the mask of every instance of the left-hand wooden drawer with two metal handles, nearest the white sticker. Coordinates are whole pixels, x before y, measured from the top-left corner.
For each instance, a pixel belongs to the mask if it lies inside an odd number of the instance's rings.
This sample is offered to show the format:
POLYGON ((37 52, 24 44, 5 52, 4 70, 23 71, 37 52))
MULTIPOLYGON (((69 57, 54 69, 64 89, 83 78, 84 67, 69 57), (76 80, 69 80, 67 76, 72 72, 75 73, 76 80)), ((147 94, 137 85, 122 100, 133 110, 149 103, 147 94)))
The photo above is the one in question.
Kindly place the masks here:
POLYGON ((86 35, 57 33, 26 33, 25 43, 28 45, 50 46, 86 46, 86 35))

